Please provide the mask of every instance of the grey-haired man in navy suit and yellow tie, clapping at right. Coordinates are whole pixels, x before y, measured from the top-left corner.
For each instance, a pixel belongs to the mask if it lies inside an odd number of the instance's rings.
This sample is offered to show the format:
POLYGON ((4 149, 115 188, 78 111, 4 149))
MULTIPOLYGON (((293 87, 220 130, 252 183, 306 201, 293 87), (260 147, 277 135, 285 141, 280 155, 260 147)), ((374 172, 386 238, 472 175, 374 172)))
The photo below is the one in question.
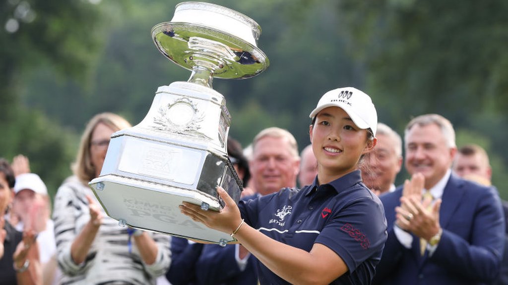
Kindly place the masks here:
POLYGON ((504 247, 497 190, 452 173, 455 131, 435 114, 406 126, 405 167, 412 175, 380 196, 388 239, 373 284, 483 284, 494 280, 504 247), (422 200, 422 196, 428 196, 422 200))

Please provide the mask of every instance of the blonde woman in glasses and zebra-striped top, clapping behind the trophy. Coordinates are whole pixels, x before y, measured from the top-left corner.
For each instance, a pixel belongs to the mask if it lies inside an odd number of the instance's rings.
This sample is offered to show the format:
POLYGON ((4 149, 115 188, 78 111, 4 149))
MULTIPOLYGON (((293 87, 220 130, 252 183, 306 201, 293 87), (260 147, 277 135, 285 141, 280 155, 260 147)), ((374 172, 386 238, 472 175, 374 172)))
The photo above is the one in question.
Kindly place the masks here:
POLYGON ((130 126, 112 113, 94 116, 81 137, 75 175, 58 189, 53 219, 64 283, 149 284, 169 267, 165 235, 119 226, 88 187, 101 173, 111 135, 130 126))

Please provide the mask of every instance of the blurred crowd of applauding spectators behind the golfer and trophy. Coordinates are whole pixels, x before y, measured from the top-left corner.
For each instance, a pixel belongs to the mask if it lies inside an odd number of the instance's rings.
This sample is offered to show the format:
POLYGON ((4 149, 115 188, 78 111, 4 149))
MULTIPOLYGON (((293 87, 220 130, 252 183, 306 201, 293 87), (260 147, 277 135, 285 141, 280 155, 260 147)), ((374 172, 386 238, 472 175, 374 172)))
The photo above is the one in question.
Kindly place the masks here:
MULTIPOLYGON (((29 158, 0 159, 0 284, 259 283, 259 261, 241 244, 198 243, 108 217, 88 182, 101 174, 111 135, 129 127, 112 113, 91 118, 54 199, 29 158)), ((404 139, 383 123, 375 137, 358 163, 387 220, 372 283, 508 284, 508 206, 491 185, 485 150, 458 148, 451 122, 436 114, 408 122, 404 139), (410 177, 397 186, 402 167, 410 177)), ((312 145, 299 152, 287 130, 261 130, 246 148, 230 137, 227 149, 244 201, 319 183, 312 145)))

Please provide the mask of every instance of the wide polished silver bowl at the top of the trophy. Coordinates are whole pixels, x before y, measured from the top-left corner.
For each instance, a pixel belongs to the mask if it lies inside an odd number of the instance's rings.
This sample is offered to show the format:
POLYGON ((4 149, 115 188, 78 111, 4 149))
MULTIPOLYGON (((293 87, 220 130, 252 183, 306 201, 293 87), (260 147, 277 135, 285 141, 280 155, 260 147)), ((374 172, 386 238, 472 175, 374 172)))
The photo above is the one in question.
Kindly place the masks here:
POLYGON ((152 28, 155 45, 171 61, 189 70, 207 68, 225 79, 249 78, 268 67, 256 44, 260 34, 249 17, 201 2, 178 4, 171 22, 152 28))

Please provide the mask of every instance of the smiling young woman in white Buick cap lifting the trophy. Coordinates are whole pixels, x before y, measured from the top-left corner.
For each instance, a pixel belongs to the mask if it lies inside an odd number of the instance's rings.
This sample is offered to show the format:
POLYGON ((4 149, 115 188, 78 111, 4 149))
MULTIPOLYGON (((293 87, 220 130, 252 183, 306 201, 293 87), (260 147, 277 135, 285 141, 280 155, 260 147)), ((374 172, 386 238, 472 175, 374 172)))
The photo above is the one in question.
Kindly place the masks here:
POLYGON ((234 236, 258 258, 261 284, 370 284, 387 238, 383 205, 362 183, 358 162, 376 145, 370 97, 347 87, 327 92, 311 112, 317 179, 238 206, 181 211, 234 236))

